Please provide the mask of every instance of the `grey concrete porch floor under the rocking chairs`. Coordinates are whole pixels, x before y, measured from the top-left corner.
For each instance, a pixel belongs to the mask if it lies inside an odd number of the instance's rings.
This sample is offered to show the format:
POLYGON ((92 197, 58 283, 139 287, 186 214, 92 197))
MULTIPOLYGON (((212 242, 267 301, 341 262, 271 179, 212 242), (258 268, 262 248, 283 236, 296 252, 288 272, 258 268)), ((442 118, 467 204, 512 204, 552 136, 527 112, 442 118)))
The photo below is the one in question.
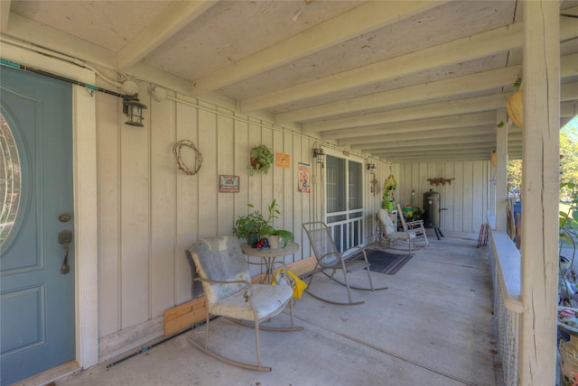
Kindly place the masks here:
MULTIPOLYGON (((428 233, 431 230, 428 230, 428 233)), ((496 385, 488 248, 477 240, 430 237, 395 275, 372 272, 374 285, 354 291, 360 306, 331 306, 308 294, 294 305, 303 331, 260 334, 264 365, 252 372, 221 363, 177 335, 107 368, 71 375, 57 385, 496 385)), ((397 252, 401 253, 401 252, 397 252)), ((350 274, 355 285, 364 271, 350 274)), ((346 299, 344 287, 316 276, 316 293, 346 299), (319 280, 321 279, 321 280, 319 280)), ((272 325, 289 323, 288 308, 272 325)), ((210 347, 255 362, 254 330, 224 318, 210 323, 210 347)))

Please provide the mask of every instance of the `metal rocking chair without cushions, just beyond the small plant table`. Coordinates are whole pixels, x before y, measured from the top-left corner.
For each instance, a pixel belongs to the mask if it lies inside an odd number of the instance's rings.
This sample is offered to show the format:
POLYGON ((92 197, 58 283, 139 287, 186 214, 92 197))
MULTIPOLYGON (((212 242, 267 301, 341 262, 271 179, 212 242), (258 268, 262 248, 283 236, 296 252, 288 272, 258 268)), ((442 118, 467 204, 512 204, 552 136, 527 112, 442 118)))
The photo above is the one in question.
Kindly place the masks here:
POLYGON ((303 224, 303 229, 307 233, 307 237, 309 237, 309 242, 312 246, 315 258, 317 259, 317 265, 315 266, 315 270, 312 272, 312 275, 309 277, 307 289, 305 289, 305 292, 310 294, 313 298, 339 306, 357 306, 359 304, 363 304, 364 301, 353 301, 353 299, 351 298, 350 289, 370 290, 370 291, 387 289, 387 287, 382 288, 373 287, 373 283, 371 282, 371 274, 369 271, 368 256, 366 255, 365 250, 363 248, 359 246, 354 246, 347 249, 343 253, 340 253, 337 250, 335 243, 333 242, 330 228, 321 221, 305 223, 303 224), (355 252, 356 250, 357 253, 355 252), (358 271, 364 268, 368 271, 369 287, 367 288, 367 287, 351 286, 347 280, 348 273, 352 271, 358 271), (331 271, 331 273, 328 273, 328 271, 331 271), (338 280, 335 277, 335 273, 337 271, 341 271, 343 273, 343 281, 338 280), (348 302, 339 302, 330 299, 324 299, 312 293, 311 287, 313 278, 317 273, 320 272, 322 272, 325 276, 327 276, 331 280, 347 288, 347 295, 349 298, 348 302))

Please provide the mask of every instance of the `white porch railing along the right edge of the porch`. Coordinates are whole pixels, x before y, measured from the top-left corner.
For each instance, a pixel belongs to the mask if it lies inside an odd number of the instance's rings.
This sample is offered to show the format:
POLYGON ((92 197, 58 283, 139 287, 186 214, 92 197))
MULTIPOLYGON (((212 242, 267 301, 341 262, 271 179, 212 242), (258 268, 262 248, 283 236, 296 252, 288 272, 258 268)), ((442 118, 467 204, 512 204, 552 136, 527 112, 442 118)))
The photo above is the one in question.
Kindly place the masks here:
POLYGON ((489 266, 493 278, 494 335, 498 343, 502 384, 518 382, 518 343, 522 322, 520 253, 506 232, 490 231, 489 266))

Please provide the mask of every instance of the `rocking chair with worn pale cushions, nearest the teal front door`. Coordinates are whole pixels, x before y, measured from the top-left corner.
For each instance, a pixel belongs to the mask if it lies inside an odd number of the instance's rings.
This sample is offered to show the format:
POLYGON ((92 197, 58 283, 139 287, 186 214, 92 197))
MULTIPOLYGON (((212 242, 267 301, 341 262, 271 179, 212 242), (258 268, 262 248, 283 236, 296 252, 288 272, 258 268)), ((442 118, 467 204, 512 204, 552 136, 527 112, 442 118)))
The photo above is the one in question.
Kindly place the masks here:
POLYGON ((293 289, 289 285, 251 284, 247 261, 233 237, 208 237, 192 244, 187 250, 194 280, 202 284, 207 301, 205 342, 200 345, 189 337, 191 345, 228 364, 259 372, 270 372, 271 367, 261 365, 259 330, 300 331, 294 326, 293 289), (289 305, 291 327, 259 326, 281 313, 289 305), (210 315, 227 317, 243 326, 255 327, 256 364, 233 361, 209 350, 210 315), (250 323, 247 323, 250 322, 250 323))

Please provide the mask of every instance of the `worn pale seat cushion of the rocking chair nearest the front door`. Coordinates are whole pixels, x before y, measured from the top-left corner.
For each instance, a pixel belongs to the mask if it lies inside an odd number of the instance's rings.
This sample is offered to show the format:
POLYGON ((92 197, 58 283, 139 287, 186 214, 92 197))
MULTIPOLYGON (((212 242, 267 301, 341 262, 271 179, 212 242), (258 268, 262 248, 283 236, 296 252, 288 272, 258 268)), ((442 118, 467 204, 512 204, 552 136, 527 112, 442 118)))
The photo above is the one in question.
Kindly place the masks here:
MULTIPOLYGON (((288 285, 253 284, 249 293, 255 305, 258 320, 275 316, 283 309, 282 306, 293 297, 293 289, 288 285)), ((250 303, 245 300, 244 294, 245 290, 241 290, 227 298, 219 299, 218 302, 210 306, 210 314, 241 320, 254 320, 250 303)))

